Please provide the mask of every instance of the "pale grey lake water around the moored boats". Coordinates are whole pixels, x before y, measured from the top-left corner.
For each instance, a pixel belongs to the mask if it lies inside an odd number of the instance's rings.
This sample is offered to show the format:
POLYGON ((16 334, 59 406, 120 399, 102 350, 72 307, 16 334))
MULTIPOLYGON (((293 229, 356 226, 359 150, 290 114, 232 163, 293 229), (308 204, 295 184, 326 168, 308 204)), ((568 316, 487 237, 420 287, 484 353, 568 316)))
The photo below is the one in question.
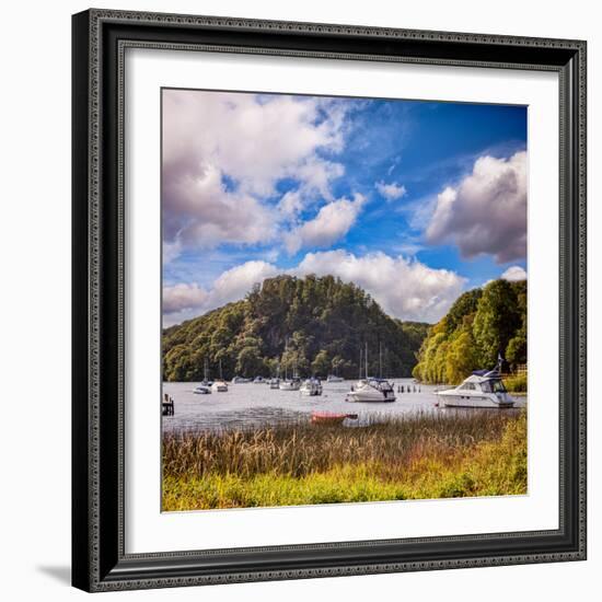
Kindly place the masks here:
MULTIPOLYGON (((433 385, 414 385, 412 379, 394 379, 395 392, 403 385, 410 393, 396 393, 393 403, 348 403, 345 401, 355 381, 324 382, 321 396, 302 396, 299 391, 271 390, 267 384, 229 384, 227 393, 196 395, 198 383, 163 383, 163 391, 174 400, 175 415, 163 416, 165 431, 217 431, 236 428, 257 428, 299 419, 310 419, 312 412, 357 414, 357 420, 346 419, 352 427, 368 421, 417 412, 516 412, 512 409, 445 409, 436 407, 433 385), (416 386, 416 392, 414 392, 416 386), (418 392, 418 386, 420 391, 418 392)), ((518 406, 524 406, 520 398, 518 406)))

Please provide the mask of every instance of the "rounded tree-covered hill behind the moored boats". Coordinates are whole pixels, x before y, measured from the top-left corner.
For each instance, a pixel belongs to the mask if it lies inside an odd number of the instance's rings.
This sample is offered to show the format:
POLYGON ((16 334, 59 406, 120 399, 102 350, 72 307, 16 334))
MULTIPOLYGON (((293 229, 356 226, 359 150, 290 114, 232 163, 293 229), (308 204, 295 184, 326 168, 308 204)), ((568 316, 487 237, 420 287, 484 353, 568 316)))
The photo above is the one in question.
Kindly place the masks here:
POLYGON ((409 377, 429 325, 402 322, 354 283, 333 276, 264 280, 245 299, 163 331, 163 378, 359 374, 368 345, 371 375, 409 377))

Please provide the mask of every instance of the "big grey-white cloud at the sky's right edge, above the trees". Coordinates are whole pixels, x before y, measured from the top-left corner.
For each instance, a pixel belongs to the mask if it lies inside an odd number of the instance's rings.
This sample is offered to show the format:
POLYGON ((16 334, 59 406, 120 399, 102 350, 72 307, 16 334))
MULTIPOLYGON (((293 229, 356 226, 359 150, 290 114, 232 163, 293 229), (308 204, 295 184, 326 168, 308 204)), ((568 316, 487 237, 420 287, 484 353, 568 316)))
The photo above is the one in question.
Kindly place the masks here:
POLYGON ((426 235, 454 242, 464 257, 494 255, 498 263, 526 255, 526 152, 481 157, 473 172, 437 198, 426 235))

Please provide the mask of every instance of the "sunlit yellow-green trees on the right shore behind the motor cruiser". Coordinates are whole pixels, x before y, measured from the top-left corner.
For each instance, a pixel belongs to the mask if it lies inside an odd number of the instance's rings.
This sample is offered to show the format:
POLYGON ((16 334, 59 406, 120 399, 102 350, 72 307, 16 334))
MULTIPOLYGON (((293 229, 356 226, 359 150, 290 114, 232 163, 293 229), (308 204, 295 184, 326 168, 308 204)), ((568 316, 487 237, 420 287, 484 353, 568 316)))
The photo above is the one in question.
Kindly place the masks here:
POLYGON ((472 370, 505 370, 526 362, 526 280, 494 280, 460 296, 435 324, 418 352, 413 374, 422 382, 462 382, 472 370))

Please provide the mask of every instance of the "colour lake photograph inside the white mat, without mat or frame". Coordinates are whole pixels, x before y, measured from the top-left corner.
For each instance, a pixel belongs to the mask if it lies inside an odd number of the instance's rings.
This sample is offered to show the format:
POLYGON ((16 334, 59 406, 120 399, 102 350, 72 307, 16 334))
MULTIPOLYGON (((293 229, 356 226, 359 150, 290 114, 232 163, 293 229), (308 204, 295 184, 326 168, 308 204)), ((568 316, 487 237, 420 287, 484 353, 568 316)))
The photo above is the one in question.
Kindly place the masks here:
POLYGON ((162 511, 528 495, 529 107, 159 93, 162 511))

